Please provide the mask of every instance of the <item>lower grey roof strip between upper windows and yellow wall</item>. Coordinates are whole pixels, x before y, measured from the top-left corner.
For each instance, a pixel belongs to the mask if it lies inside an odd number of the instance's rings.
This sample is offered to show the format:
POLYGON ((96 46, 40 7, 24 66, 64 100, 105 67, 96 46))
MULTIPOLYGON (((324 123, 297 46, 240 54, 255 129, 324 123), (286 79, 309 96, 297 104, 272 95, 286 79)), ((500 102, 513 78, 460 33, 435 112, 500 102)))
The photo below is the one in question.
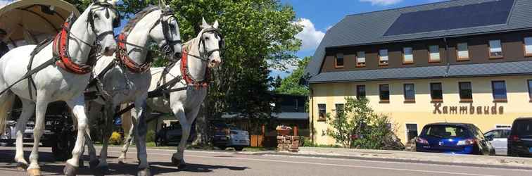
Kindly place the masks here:
POLYGON ((532 61, 328 72, 319 73, 310 78, 309 82, 360 82, 498 75, 532 75, 532 61))

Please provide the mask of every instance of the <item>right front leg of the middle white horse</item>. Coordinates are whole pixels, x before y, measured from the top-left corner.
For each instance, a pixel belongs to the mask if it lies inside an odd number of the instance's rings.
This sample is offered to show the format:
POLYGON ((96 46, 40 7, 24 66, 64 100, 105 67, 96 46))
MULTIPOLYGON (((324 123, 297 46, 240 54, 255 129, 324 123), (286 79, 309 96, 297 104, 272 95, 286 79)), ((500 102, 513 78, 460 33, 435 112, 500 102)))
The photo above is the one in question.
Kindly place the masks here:
POLYGON ((137 175, 151 175, 148 155, 146 153, 146 96, 135 100, 135 111, 137 111, 137 124, 135 124, 134 140, 137 144, 137 158, 139 159, 139 172, 137 175))

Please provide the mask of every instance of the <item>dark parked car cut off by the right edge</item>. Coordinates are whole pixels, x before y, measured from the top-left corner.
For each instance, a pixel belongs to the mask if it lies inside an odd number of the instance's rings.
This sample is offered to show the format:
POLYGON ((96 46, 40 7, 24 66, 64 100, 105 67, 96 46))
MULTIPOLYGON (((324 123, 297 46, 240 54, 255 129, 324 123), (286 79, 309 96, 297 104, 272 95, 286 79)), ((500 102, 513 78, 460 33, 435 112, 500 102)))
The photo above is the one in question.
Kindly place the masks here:
POLYGON ((508 137, 508 156, 532 157, 532 118, 514 120, 508 137))

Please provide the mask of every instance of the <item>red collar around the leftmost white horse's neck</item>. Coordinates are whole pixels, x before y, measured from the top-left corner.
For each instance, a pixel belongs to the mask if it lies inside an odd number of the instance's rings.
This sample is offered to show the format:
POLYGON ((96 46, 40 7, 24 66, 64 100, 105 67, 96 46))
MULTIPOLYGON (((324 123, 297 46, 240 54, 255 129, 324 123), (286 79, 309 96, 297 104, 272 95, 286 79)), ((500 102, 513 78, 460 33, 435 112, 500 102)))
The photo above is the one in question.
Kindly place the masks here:
POLYGON ((96 49, 98 47, 91 47, 89 53, 89 60, 87 63, 77 64, 72 61, 72 57, 68 54, 68 43, 70 40, 70 27, 74 23, 76 17, 70 14, 70 17, 63 24, 63 29, 59 32, 55 39, 53 39, 53 58, 56 58, 56 65, 70 73, 77 75, 85 75, 91 73, 94 64, 96 63, 96 49))

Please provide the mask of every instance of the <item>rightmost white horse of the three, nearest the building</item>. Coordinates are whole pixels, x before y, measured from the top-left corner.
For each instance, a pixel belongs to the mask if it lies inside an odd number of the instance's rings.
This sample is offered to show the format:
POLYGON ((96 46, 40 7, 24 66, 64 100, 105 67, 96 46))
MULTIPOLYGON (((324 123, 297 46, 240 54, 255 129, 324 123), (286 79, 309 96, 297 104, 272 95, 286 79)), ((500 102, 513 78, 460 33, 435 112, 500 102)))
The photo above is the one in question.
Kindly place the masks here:
MULTIPOLYGON (((151 85, 149 91, 158 89, 158 84, 172 82, 178 79, 179 82, 167 87, 167 90, 178 90, 170 92, 170 99, 160 96, 148 99, 146 115, 151 111, 163 113, 174 113, 182 126, 182 138, 177 146, 177 153, 172 156, 172 163, 178 168, 184 168, 184 149, 186 140, 189 139, 192 123, 196 120, 201 103, 207 96, 207 86, 209 69, 216 68, 222 63, 220 49, 223 45, 222 34, 218 30, 218 21, 213 25, 208 25, 203 19, 201 32, 194 39, 183 44, 184 52, 181 62, 173 64, 167 72, 165 68, 151 68, 151 85), (186 63, 186 65, 183 65, 186 63), (162 80, 162 81, 160 81, 162 80)), ((132 116, 138 111, 133 111, 132 116)), ((124 117, 129 118, 129 117, 124 117)), ((122 153, 118 160, 122 163, 125 160, 129 143, 132 139, 132 133, 138 130, 133 125, 129 130, 129 135, 122 147, 122 153)), ((136 138, 134 138, 136 139, 136 138)), ((137 140, 137 139, 136 139, 137 140)))

